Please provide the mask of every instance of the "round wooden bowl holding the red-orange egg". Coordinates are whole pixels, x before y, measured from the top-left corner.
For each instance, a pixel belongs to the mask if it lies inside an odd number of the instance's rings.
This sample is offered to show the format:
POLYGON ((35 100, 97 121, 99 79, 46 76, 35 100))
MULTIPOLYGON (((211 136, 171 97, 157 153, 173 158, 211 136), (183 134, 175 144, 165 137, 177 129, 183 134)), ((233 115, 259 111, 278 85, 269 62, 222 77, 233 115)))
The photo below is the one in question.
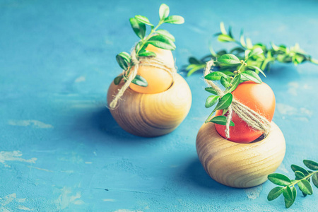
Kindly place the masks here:
POLYGON ((203 124, 196 136, 196 153, 212 179, 229 187, 248 188, 262 184, 275 172, 285 155, 281 129, 271 122, 264 139, 235 143, 218 134, 213 123, 203 124))

